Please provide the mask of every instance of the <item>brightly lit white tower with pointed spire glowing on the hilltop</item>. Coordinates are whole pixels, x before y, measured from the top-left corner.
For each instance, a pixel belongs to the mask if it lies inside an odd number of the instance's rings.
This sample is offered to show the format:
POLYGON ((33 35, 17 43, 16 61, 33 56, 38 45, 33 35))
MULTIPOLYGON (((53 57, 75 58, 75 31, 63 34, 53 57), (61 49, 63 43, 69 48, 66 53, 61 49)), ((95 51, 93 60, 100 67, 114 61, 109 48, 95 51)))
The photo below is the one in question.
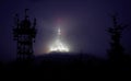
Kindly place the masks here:
POLYGON ((49 51, 60 51, 60 53, 68 53, 69 47, 61 40, 61 30, 58 27, 57 31, 57 38, 56 40, 50 45, 49 51))

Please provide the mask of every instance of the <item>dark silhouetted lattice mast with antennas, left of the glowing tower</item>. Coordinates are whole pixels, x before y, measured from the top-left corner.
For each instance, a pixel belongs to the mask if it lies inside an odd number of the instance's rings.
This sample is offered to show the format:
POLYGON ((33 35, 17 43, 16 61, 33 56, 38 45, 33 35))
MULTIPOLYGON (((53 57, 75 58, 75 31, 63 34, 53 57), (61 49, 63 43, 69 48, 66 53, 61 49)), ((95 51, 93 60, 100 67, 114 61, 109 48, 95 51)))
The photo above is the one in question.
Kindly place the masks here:
POLYGON ((15 26, 13 27, 13 37, 17 42, 17 58, 19 59, 29 59, 33 56, 33 43, 36 37, 36 19, 32 23, 26 14, 27 9, 25 9, 25 18, 20 21, 19 14, 15 15, 15 26))

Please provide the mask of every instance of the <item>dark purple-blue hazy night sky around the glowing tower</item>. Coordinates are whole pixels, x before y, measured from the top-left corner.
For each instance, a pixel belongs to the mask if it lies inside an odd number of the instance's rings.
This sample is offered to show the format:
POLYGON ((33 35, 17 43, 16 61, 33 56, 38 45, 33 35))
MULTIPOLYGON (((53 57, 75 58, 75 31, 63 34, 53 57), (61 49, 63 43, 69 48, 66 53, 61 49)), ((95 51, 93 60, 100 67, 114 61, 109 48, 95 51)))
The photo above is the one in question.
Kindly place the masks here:
MULTIPOLYGON (((88 53, 106 57, 109 48, 107 27, 112 26, 110 15, 119 13, 119 22, 131 23, 131 0, 0 0, 0 59, 15 57, 16 42, 13 40, 13 16, 24 16, 29 9, 31 20, 37 19, 38 34, 34 46, 35 55, 45 53, 53 39, 57 20, 72 51, 88 53)), ((130 24, 131 25, 131 24, 130 24)), ((131 51, 131 30, 123 32, 122 44, 131 51)))

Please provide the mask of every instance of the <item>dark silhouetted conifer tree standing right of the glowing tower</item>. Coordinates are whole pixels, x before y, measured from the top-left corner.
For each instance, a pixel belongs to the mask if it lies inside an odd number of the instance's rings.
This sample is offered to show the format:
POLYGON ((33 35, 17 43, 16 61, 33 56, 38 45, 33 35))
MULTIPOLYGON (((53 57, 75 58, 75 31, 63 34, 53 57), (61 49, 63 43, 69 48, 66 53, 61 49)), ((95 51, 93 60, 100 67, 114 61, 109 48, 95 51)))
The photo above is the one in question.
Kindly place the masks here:
POLYGON ((122 32, 128 25, 122 25, 118 23, 118 16, 117 14, 114 14, 111 16, 112 19, 112 27, 108 27, 108 33, 110 34, 110 49, 108 50, 109 59, 112 61, 115 60, 121 60, 124 55, 124 48, 120 43, 120 39, 122 37, 122 32))

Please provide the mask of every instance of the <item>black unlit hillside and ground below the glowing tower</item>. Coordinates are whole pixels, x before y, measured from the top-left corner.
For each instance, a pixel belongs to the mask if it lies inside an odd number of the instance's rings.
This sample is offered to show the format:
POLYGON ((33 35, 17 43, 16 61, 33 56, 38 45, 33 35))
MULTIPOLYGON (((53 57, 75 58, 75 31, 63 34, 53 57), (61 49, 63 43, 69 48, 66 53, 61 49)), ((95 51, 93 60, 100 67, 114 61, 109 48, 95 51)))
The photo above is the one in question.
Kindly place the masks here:
POLYGON ((15 60, 0 63, 0 73, 4 77, 36 77, 45 78, 80 78, 100 74, 130 74, 131 59, 121 60, 99 59, 87 55, 47 55, 35 57, 34 60, 15 60))

